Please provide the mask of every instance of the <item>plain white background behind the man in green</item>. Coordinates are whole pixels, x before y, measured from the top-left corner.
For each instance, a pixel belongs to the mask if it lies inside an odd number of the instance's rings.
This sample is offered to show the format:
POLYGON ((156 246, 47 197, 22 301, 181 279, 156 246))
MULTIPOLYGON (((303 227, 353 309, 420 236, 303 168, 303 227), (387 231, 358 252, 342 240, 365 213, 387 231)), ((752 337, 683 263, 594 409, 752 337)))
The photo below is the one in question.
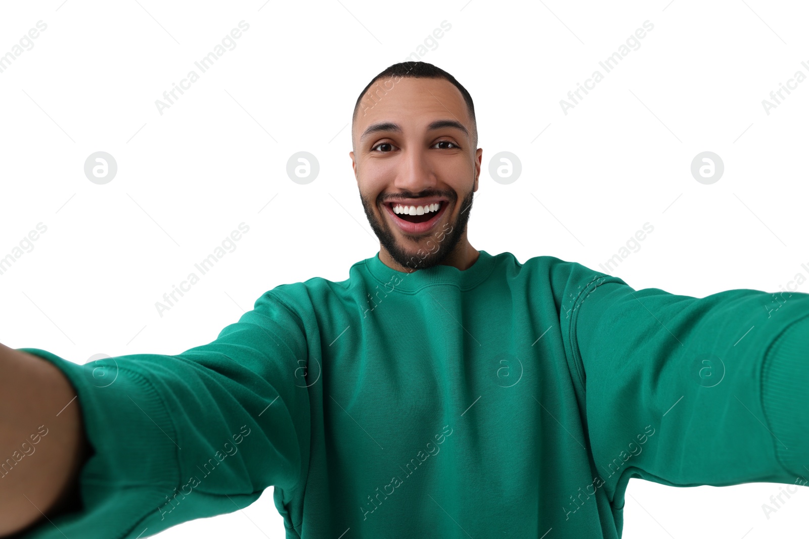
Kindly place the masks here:
MULTIPOLYGON (((633 288, 703 297, 807 276, 809 81, 769 115, 761 101, 809 75, 809 8, 668 1, 2 2, 0 54, 48 27, 0 73, 0 257, 37 223, 47 232, 0 275, 0 342, 78 363, 174 354, 277 284, 347 278, 379 249, 348 157, 354 102, 444 20, 451 30, 421 59, 475 100, 472 246, 595 269, 648 221, 654 232, 613 272, 633 288), (243 19, 236 47, 159 114, 155 99, 243 19), (646 20, 640 48, 605 74, 598 62, 646 20), (604 80, 565 115, 560 99, 595 69, 604 80), (706 150, 725 165, 711 185, 690 173, 706 150), (96 151, 116 159, 110 183, 84 175, 96 151), (286 175, 298 151, 320 162, 312 183, 286 175), (514 183, 489 175, 500 151, 522 162, 514 183), (155 301, 243 221, 235 251, 161 317, 155 301)), ((624 537, 804 533, 806 489, 768 520, 761 505, 777 493, 634 479, 624 537)), ((272 489, 159 537, 192 535, 283 537, 272 489)))

